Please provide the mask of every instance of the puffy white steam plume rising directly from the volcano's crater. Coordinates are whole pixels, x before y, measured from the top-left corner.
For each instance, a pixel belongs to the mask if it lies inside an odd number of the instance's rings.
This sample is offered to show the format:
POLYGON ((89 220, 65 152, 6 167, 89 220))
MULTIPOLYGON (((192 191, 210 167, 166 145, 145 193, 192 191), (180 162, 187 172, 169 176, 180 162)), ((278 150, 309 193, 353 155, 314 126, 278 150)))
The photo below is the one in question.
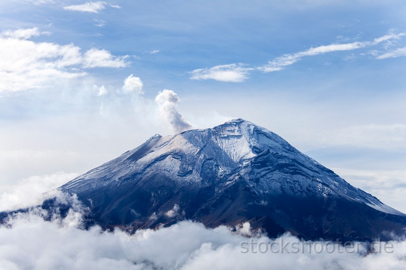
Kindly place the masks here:
POLYGON ((175 132, 179 133, 192 127, 177 111, 179 97, 174 91, 165 89, 159 92, 155 97, 155 102, 158 104, 162 117, 169 122, 175 132))

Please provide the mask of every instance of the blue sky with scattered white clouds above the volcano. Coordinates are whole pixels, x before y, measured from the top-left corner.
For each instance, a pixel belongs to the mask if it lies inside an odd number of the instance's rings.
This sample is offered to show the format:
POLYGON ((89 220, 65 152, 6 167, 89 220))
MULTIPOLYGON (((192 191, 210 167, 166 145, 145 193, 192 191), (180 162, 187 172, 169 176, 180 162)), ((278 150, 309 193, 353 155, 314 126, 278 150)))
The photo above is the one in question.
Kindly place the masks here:
POLYGON ((406 211, 404 14, 403 1, 3 0, 0 192, 244 118, 406 211))

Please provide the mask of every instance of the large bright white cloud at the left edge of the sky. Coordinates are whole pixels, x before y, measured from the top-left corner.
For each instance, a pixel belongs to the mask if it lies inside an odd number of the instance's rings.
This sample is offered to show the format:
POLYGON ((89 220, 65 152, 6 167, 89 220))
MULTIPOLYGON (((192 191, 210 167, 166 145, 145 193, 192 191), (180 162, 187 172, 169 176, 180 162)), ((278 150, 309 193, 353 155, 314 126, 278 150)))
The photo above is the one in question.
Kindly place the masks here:
POLYGON ((33 42, 30 37, 44 34, 38 28, 7 30, 0 34, 0 92, 47 87, 63 79, 85 76, 86 68, 119 68, 129 64, 128 56, 113 56, 92 48, 81 53, 74 44, 33 42))

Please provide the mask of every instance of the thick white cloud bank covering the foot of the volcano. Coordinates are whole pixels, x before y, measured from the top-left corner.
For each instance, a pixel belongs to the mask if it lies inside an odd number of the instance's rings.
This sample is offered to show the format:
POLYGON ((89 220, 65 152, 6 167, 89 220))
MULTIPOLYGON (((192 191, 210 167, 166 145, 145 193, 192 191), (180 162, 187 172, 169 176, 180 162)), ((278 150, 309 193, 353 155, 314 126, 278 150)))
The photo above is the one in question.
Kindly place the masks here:
MULTIPOLYGON (((64 199, 66 200, 66 199, 64 199)), ((71 199, 75 202, 75 199, 71 199)), ((83 210, 75 207, 66 218, 44 221, 47 213, 32 210, 0 226, 0 263, 7 269, 402 269, 406 242, 389 242, 393 253, 345 252, 328 242, 307 242, 302 248, 297 238, 283 235, 269 239, 262 235, 243 237, 231 228, 205 228, 202 224, 183 221, 157 230, 138 230, 128 235, 116 228, 103 232, 94 226, 80 229, 83 210), (242 248, 243 244, 247 249, 242 248), (281 252, 285 244, 284 253, 281 252), (290 243, 299 243, 294 251, 290 243), (62 244, 61 244, 62 243, 62 244), (264 247, 273 245, 271 253, 264 247), (288 243, 288 245, 286 245, 288 243), (334 251, 327 253, 326 249, 334 251), (315 250, 323 252, 316 253, 315 250), (309 251, 310 249, 310 251, 309 251), (255 252, 255 253, 253 253, 255 252)), ((248 226, 246 226, 248 229, 248 226)), ((386 243, 383 243, 383 245, 386 243)), ((352 251, 351 249, 350 251, 352 251)), ((360 251, 364 248, 360 246, 360 251)))

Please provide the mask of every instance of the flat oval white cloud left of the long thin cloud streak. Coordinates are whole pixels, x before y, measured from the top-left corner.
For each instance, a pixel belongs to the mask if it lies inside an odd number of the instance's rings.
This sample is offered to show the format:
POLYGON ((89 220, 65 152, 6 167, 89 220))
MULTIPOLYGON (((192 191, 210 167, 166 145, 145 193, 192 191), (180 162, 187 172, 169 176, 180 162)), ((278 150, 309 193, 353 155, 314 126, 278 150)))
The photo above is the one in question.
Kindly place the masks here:
POLYGON ((241 83, 248 79, 248 71, 253 68, 243 67, 241 63, 218 65, 191 71, 191 80, 216 80, 220 82, 241 83))

